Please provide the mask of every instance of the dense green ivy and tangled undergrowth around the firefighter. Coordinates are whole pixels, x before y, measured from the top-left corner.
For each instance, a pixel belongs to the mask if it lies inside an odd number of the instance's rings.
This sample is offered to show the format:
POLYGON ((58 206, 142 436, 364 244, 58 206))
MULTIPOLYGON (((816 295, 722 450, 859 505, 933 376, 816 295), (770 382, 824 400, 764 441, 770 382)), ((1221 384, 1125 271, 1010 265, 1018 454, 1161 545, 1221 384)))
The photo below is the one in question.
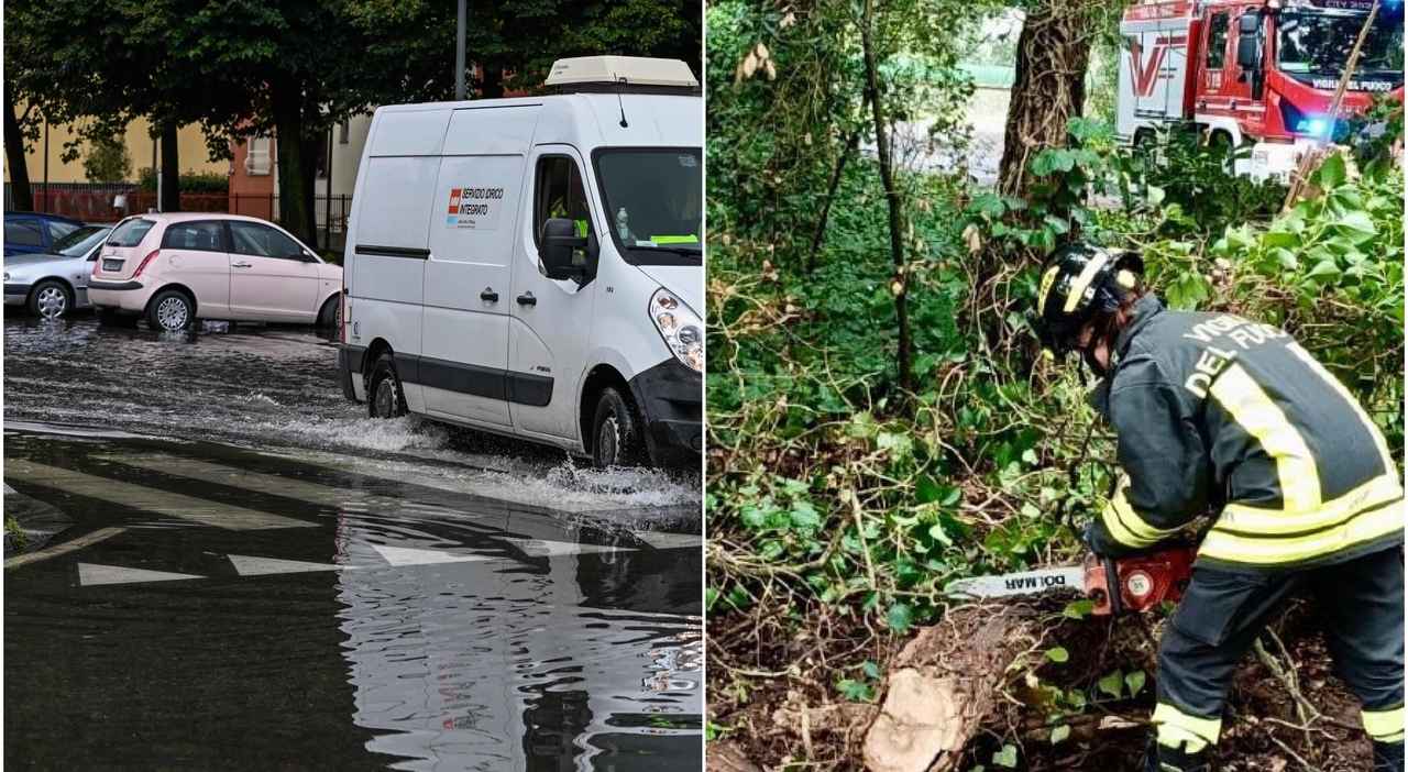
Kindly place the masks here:
MULTIPOLYGON (((1025 200, 962 169, 901 170, 897 269, 877 165, 852 141, 869 99, 848 86, 853 51, 807 28, 836 20, 734 3, 708 14, 710 69, 735 73, 708 83, 711 702, 766 689, 739 662, 790 637, 811 654, 787 673, 821 679, 835 700, 873 700, 893 642, 950 609, 949 580, 1083 552, 1077 527, 1108 489, 1112 437, 1084 406, 1091 383, 1043 358, 1024 318, 1041 256, 1064 239, 1139 249, 1171 307, 1284 327, 1401 455, 1404 180, 1384 152, 1402 135, 1401 107, 1376 107, 1388 131, 1332 154, 1286 211, 1283 185, 1226 172, 1245 151, 1178 127, 1136 152, 1074 120, 1067 148, 1032 159, 1025 200), (898 386, 900 289, 911 393, 898 386), (843 631, 835 645, 815 641, 818 618, 843 631), (838 648, 848 654, 828 658, 838 648)), ((962 147, 967 92, 931 86, 911 92, 949 96, 925 106, 936 138, 962 147)), ((1112 665, 1062 685, 1063 704, 1148 699, 1152 675, 1112 665)))

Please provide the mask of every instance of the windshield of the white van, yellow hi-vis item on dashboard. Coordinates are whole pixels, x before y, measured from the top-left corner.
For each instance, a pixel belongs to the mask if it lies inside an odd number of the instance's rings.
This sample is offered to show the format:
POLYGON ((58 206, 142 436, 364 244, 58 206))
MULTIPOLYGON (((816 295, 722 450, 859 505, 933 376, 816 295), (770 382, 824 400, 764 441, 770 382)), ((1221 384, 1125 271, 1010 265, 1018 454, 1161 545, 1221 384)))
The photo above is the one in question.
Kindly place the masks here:
POLYGON ((697 263, 704 254, 704 166, 698 148, 597 151, 612 237, 632 262, 697 263))

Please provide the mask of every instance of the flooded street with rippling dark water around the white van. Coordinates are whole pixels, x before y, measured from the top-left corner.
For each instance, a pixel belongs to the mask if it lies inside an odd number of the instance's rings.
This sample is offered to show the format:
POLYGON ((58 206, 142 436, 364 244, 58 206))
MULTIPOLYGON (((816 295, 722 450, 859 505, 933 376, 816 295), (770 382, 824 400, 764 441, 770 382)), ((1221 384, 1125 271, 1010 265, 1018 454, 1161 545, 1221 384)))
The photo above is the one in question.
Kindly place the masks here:
POLYGON ((697 475, 342 399, 311 328, 6 314, 15 769, 698 768, 697 475))

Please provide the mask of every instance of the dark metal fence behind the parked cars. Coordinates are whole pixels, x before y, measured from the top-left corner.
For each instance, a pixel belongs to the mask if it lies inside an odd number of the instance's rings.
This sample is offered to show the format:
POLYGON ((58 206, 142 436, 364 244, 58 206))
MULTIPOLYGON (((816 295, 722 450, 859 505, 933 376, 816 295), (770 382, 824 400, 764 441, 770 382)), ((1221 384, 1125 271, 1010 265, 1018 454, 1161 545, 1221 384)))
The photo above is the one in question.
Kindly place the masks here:
MULTIPOLYGON (((35 211, 61 214, 84 223, 115 223, 127 214, 156 208, 156 193, 138 193, 130 185, 51 183, 30 186, 35 211), (127 199, 125 211, 118 208, 118 196, 127 199)), ((11 210, 10 183, 4 183, 4 208, 11 210)), ((277 193, 182 193, 182 211, 221 211, 279 221, 277 193)), ((352 196, 315 196, 314 218, 320 232, 345 232, 352 196), (331 204, 331 206, 329 206, 331 204)))

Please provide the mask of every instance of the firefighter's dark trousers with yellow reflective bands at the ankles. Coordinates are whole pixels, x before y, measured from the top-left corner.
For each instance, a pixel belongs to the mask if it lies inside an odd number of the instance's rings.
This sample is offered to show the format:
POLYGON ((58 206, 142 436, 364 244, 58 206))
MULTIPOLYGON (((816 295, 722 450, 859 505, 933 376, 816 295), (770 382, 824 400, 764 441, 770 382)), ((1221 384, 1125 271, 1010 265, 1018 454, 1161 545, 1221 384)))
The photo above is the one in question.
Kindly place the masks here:
POLYGON ((1217 744, 1233 671, 1298 590, 1316 602, 1335 673, 1359 697, 1370 738, 1402 742, 1404 562, 1393 547, 1280 575, 1195 568, 1159 641, 1160 745, 1200 752, 1217 744))

